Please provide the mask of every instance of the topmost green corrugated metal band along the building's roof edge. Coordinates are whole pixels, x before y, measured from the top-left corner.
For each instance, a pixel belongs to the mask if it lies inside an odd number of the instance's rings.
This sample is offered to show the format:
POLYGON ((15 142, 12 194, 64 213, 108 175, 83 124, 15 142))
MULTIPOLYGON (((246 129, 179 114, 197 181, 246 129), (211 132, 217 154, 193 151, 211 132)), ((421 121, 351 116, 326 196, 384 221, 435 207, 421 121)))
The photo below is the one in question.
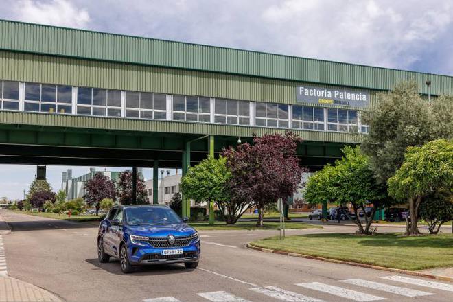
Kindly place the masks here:
POLYGON ((179 69, 215 71, 389 90, 415 80, 421 93, 453 94, 453 77, 326 62, 149 38, 104 34, 14 21, 0 21, 0 49, 179 69))

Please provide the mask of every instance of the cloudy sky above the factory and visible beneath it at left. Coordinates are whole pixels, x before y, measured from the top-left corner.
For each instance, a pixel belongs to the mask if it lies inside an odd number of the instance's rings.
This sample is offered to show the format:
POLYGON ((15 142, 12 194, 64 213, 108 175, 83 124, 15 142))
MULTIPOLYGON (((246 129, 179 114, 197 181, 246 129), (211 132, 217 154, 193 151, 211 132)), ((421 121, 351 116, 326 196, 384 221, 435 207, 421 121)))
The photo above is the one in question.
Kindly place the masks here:
MULTIPOLYGON (((453 0, 0 2, 0 19, 453 75, 453 0)), ((47 168, 54 189, 66 169, 47 168)), ((0 165, 0 196, 21 198, 34 174, 0 165)))

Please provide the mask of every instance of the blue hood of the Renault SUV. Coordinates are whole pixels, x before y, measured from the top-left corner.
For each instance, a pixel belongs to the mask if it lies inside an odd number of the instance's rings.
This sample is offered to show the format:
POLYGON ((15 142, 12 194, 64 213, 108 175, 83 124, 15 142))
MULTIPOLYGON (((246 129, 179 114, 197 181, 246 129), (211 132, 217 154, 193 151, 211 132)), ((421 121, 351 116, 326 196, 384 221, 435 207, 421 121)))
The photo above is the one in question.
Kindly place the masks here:
POLYGON ((168 235, 174 236, 188 236, 194 234, 194 228, 189 227, 187 224, 163 224, 163 225, 141 225, 141 226, 128 226, 132 235, 148 236, 148 237, 167 237, 168 235))

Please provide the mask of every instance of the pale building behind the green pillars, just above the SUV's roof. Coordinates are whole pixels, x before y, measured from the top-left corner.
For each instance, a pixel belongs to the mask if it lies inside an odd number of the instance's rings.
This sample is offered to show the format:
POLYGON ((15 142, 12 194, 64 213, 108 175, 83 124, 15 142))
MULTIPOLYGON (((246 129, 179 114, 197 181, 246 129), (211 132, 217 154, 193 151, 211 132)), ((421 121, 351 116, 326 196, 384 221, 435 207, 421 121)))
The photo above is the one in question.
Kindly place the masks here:
MULTIPOLYGON (((176 170, 175 175, 170 175, 170 170, 166 171, 167 176, 164 177, 165 171, 161 170, 161 179, 157 181, 158 187, 158 198, 157 202, 159 204, 170 205, 170 200, 175 193, 179 193, 179 183, 181 183, 181 174, 178 174, 176 170)), ((152 203, 152 179, 145 181, 146 193, 148 194, 148 199, 152 203)))

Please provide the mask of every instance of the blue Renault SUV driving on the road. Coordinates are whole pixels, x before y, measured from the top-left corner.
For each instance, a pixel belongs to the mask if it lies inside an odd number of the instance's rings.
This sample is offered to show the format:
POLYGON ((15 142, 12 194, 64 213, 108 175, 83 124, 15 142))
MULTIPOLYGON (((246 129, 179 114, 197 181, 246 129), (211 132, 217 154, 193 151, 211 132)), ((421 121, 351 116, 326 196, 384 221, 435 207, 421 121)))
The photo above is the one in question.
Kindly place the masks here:
POLYGON ((124 273, 142 264, 183 263, 196 268, 200 237, 186 222, 165 205, 113 207, 99 226, 97 257, 100 262, 119 258, 124 273))

